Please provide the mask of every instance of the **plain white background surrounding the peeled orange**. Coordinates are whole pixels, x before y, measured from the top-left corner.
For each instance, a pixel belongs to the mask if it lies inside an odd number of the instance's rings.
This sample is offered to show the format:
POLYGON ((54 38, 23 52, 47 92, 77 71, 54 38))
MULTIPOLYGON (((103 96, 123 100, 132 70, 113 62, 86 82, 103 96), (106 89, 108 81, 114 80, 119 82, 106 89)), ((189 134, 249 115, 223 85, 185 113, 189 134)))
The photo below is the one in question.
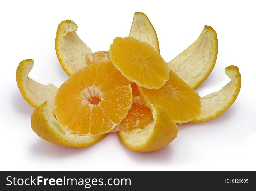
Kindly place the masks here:
POLYGON ((253 1, 4 1, 0 8, 1 170, 256 170, 255 5, 253 1), (145 13, 169 62, 192 44, 204 25, 218 34, 218 58, 200 96, 220 90, 230 79, 224 69, 239 67, 241 91, 221 116, 179 125, 165 148, 138 153, 124 147, 116 133, 87 148, 66 148, 31 129, 33 108, 21 96, 16 68, 33 59, 30 77, 59 87, 67 75, 54 41, 62 20, 78 25, 79 37, 93 52, 108 50, 116 36, 128 36, 134 12, 145 13))

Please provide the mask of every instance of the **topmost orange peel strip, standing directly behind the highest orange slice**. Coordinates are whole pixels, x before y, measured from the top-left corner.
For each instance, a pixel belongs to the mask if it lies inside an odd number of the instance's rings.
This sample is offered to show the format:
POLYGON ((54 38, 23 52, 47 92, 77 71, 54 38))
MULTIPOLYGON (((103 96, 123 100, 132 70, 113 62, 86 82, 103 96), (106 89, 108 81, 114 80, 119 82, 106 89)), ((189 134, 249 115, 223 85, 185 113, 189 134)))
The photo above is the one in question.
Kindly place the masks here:
POLYGON ((139 41, 149 43, 159 53, 157 33, 150 20, 147 18, 147 15, 144 13, 134 13, 129 36, 139 41))

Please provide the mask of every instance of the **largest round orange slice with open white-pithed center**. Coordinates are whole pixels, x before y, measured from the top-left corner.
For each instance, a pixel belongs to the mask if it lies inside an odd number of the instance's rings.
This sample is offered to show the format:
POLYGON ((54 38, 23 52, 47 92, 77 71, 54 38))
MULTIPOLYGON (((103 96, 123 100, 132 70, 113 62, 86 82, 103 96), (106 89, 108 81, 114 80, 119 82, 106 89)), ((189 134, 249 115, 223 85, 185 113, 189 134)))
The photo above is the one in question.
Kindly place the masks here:
POLYGON ((57 91, 54 113, 70 131, 95 136, 119 125, 131 104, 130 82, 108 61, 72 74, 57 91))

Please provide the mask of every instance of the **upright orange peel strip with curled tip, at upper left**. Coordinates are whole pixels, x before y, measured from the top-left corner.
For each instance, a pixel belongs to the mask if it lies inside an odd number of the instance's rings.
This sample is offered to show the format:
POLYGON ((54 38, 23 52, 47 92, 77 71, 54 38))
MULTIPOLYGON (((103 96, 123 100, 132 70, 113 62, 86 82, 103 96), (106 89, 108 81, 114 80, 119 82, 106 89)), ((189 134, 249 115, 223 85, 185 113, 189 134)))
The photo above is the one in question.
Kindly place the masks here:
POLYGON ((63 70, 69 76, 83 69, 86 66, 85 55, 92 53, 77 35, 77 28, 73 21, 66 20, 58 25, 56 33, 56 54, 63 70))

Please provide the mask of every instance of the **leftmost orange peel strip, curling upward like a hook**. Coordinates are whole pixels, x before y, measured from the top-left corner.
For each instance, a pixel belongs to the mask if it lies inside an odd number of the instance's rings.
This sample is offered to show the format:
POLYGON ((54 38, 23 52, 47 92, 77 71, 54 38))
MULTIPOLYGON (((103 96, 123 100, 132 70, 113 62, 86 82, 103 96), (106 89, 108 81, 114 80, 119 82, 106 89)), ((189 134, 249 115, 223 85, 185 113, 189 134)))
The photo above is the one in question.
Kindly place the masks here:
POLYGON ((23 98, 34 108, 45 101, 54 103, 54 97, 58 88, 52 84, 42 85, 28 77, 33 68, 34 60, 27 59, 19 63, 16 71, 16 81, 23 98))

